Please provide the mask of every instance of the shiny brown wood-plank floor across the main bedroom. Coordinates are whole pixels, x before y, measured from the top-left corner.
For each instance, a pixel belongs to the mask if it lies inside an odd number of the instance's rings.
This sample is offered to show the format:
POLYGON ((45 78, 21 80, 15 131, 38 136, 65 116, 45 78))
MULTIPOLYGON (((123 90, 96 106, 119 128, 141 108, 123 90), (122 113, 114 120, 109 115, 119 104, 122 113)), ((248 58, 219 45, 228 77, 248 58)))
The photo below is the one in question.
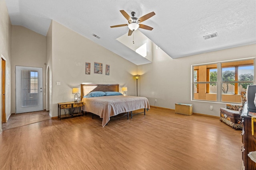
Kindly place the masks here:
POLYGON ((217 117, 151 107, 105 127, 91 114, 0 135, 0 169, 240 170, 241 131, 217 117))

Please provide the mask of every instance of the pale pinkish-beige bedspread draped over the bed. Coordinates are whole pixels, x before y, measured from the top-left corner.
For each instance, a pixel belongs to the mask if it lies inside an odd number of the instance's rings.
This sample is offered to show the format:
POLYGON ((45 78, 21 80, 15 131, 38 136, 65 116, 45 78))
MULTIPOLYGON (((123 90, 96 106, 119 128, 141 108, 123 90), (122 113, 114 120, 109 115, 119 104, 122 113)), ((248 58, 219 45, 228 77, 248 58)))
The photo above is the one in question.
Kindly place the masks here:
POLYGON ((138 96, 102 96, 83 98, 84 111, 99 115, 104 127, 111 116, 138 109, 150 109, 148 99, 138 96))

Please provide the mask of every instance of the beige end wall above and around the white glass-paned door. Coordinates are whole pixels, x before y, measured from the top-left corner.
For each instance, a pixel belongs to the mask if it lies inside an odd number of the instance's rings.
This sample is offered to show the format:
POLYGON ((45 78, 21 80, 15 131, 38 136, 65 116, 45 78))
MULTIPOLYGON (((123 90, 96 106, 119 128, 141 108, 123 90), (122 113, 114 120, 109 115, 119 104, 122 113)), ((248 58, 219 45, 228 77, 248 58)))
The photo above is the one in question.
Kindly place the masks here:
MULTIPOLYGON (((22 26, 12 25, 12 113, 15 113, 15 66, 43 68, 45 85, 46 37, 22 26)), ((43 89, 45 93, 45 88, 43 89)), ((46 95, 43 93, 43 108, 46 109, 46 95)))

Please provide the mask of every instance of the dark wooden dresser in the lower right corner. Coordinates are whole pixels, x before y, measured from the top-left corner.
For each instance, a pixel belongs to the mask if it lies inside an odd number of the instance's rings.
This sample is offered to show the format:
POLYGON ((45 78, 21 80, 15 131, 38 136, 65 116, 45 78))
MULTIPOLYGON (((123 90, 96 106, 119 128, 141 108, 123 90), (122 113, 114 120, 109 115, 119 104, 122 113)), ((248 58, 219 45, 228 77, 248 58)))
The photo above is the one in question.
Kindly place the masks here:
POLYGON ((256 151, 256 123, 254 123, 254 135, 252 135, 252 119, 248 115, 247 104, 244 104, 241 117, 243 119, 242 130, 242 160, 244 163, 244 170, 256 170, 256 163, 248 156, 249 152, 256 151))

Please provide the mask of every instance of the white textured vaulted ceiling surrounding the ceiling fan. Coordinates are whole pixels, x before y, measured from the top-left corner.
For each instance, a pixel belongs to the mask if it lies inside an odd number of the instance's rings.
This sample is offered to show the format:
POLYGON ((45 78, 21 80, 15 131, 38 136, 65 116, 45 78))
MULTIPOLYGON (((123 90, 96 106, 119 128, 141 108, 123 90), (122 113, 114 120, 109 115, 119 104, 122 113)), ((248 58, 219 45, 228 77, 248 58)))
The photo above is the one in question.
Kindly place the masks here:
POLYGON ((51 20, 134 64, 150 63, 116 39, 128 27, 119 10, 136 17, 154 11, 140 29, 173 59, 256 43, 256 0, 6 0, 12 25, 46 35, 51 20), (203 36, 218 33, 204 40, 203 36), (92 36, 96 34, 97 39, 92 36))

